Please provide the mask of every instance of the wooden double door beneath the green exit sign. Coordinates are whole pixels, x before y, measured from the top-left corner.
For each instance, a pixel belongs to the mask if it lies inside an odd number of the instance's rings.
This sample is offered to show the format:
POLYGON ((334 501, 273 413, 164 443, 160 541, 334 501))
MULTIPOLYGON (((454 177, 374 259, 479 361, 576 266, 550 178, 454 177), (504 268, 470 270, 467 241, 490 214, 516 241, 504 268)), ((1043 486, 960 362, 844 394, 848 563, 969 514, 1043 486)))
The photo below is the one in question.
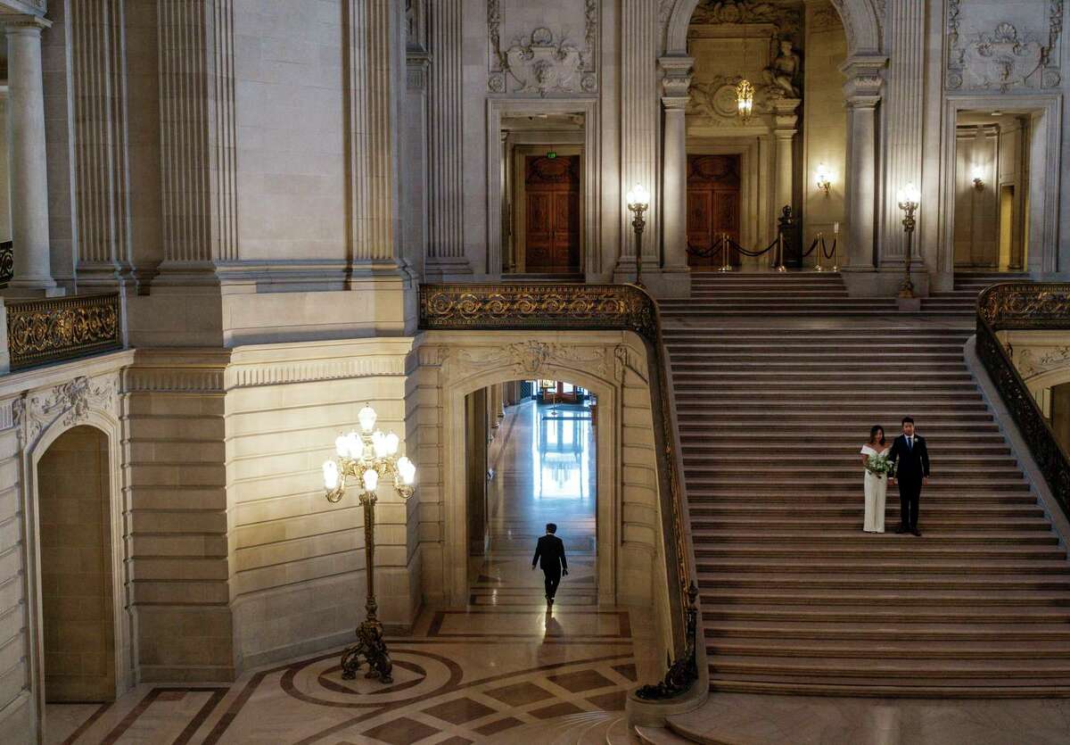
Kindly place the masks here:
POLYGON ((524 271, 580 271, 580 156, 524 158, 524 271))

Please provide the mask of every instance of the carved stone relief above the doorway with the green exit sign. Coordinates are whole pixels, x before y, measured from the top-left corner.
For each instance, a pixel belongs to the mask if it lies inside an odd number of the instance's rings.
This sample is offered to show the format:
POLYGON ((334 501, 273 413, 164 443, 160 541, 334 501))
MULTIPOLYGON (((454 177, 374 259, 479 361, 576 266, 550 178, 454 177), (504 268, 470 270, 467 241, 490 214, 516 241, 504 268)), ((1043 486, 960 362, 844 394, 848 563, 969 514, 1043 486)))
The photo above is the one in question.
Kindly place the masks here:
POLYGON ((594 93, 598 90, 598 2, 584 0, 583 44, 546 27, 502 46, 502 2, 487 2, 490 58, 487 88, 491 93, 594 93))

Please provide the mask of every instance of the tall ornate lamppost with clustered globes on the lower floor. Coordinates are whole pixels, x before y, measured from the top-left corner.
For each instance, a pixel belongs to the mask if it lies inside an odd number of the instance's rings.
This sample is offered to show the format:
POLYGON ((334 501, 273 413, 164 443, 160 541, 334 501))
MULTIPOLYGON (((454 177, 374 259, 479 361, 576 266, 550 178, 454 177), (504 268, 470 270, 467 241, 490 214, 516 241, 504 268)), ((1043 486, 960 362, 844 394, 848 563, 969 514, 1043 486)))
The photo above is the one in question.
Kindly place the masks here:
POLYGON ((384 435, 376 429, 378 415, 370 405, 366 405, 356 415, 361 431, 339 435, 335 440, 335 460, 323 462, 323 487, 331 503, 338 502, 346 493, 347 480, 352 478, 360 487, 357 499, 364 507, 364 556, 366 564, 368 596, 365 604, 367 618, 356 627, 356 643, 341 653, 341 676, 356 678, 361 658, 368 664, 365 678, 378 678, 383 683, 394 681, 391 674, 394 664, 383 639, 383 624, 376 611, 376 489, 380 478, 394 478, 394 488, 408 501, 416 482, 416 465, 406 456, 398 457, 398 436, 384 435))

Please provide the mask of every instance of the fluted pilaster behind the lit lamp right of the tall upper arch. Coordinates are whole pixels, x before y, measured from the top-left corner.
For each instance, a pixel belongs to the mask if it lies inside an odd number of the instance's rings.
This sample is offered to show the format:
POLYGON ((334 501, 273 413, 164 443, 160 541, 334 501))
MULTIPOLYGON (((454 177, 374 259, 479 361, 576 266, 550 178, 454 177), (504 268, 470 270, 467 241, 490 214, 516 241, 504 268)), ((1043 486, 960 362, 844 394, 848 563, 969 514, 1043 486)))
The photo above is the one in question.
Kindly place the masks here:
MULTIPOLYGON (((924 126, 926 3, 917 0, 889 0, 885 15, 890 63, 887 73, 884 107, 887 117, 885 147, 884 230, 881 263, 900 263, 906 241, 902 212, 896 193, 907 182, 921 186, 921 140, 924 126)), ((918 221, 923 221, 924 209, 918 221)), ((914 254, 921 248, 914 241, 914 254)))

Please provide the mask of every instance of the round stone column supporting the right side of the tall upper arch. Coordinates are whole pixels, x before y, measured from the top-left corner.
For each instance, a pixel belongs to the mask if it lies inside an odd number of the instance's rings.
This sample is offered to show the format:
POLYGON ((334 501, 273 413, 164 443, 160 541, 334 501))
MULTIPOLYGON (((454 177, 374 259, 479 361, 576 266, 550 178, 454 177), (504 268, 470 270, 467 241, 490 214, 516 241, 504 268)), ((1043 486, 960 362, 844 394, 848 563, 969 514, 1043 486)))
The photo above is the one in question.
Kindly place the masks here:
POLYGON ((881 102, 881 70, 886 57, 853 57, 840 71, 847 76, 847 164, 844 233, 849 272, 873 271, 876 210, 876 105, 881 102))

